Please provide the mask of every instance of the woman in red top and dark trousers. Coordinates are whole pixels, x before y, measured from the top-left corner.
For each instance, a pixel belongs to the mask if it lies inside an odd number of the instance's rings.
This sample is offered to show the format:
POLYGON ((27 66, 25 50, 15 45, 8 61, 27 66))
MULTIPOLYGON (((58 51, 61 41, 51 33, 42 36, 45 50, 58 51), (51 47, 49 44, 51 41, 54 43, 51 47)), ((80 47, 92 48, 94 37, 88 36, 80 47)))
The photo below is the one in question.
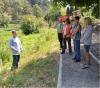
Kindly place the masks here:
POLYGON ((69 54, 72 53, 72 48, 71 48, 71 26, 70 26, 70 20, 67 18, 65 21, 65 25, 63 28, 63 41, 64 41, 64 52, 66 49, 66 41, 68 42, 68 48, 69 48, 69 54))

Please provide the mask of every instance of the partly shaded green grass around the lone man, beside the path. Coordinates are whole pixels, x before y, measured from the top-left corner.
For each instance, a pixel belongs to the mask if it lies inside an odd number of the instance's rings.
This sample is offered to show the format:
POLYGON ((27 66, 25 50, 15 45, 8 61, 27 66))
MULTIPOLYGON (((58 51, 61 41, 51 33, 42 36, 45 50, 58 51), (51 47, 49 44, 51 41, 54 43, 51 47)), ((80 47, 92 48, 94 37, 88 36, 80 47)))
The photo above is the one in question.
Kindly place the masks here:
MULTIPOLYGON (((11 28, 11 27, 10 27, 11 28)), ((9 30, 9 29, 7 29, 9 30)), ((19 69, 10 71, 11 55, 7 42, 10 31, 0 30, 1 45, 10 57, 9 63, 2 66, 0 85, 5 87, 56 87, 58 77, 58 43, 54 29, 40 29, 38 34, 25 36, 18 31, 23 45, 19 69)), ((7 58, 7 57, 6 57, 7 58)))

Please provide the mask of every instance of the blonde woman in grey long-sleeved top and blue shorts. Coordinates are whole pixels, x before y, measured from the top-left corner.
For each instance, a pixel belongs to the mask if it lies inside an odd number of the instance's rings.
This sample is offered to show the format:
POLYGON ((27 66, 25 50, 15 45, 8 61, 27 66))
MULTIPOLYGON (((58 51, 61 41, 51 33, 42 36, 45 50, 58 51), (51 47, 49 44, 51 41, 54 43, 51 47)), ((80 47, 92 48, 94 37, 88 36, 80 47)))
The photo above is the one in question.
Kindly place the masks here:
POLYGON ((84 30, 82 34, 82 41, 84 43, 84 49, 85 49, 85 64, 83 65, 83 69, 88 68, 90 61, 91 61, 91 55, 89 53, 91 41, 92 41, 92 32, 93 27, 91 23, 91 19, 89 17, 86 17, 84 19, 84 30))

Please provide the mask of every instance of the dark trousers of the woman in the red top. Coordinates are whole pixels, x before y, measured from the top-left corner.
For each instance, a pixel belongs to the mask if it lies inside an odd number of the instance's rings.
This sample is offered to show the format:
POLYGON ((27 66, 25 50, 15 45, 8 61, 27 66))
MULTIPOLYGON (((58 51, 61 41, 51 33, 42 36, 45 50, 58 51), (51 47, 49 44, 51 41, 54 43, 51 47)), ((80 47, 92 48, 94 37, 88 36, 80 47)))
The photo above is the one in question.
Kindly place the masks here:
POLYGON ((71 47, 71 38, 67 37, 67 38, 63 38, 63 52, 65 52, 65 49, 67 48, 67 44, 68 43, 68 49, 69 49, 69 53, 72 53, 72 47, 71 47))

